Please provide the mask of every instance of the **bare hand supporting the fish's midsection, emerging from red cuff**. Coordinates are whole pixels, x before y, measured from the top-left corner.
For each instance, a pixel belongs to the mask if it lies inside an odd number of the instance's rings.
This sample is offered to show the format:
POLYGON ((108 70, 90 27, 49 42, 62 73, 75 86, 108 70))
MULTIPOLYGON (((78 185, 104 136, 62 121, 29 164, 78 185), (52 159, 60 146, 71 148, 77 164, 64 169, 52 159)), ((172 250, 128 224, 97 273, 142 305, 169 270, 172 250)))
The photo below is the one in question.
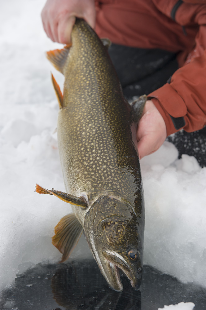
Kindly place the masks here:
POLYGON ((152 100, 147 100, 137 130, 139 159, 157 151, 166 137, 167 130, 163 117, 152 100))

